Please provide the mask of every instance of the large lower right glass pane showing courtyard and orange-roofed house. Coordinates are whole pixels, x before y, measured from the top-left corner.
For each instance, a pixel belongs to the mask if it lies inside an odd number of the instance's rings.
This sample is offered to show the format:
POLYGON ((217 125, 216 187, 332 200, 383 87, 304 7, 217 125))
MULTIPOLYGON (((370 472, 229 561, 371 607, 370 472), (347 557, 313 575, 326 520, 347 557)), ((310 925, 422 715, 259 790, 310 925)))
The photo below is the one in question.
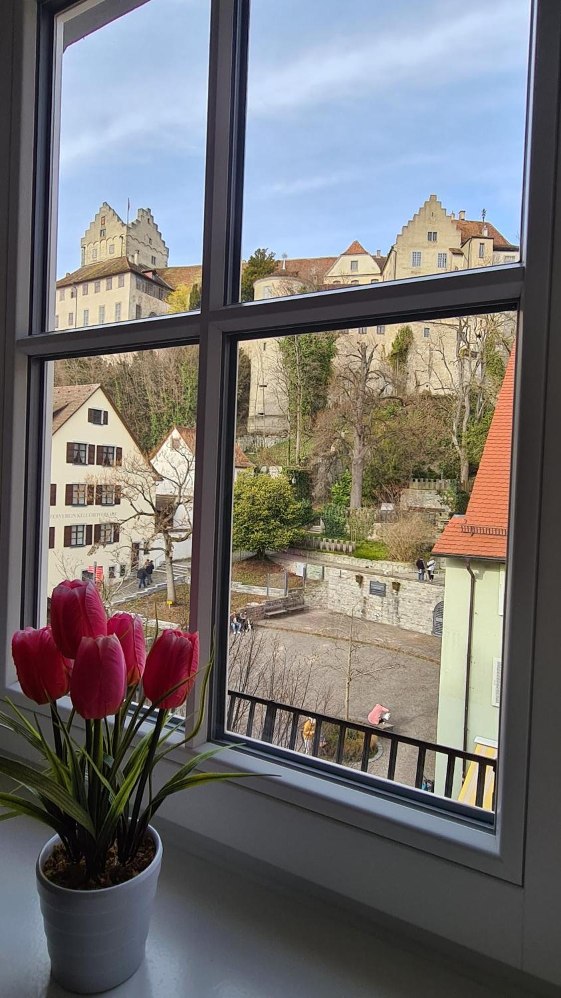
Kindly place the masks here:
POLYGON ((241 342, 230 731, 492 809, 515 332, 241 342))

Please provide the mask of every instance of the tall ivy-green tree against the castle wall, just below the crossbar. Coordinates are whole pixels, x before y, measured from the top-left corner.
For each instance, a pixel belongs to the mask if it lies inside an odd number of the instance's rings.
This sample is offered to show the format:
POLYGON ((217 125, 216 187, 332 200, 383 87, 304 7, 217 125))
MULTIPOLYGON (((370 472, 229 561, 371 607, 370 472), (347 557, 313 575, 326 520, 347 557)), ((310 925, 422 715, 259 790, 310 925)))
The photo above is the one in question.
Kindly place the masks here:
POLYGON ((327 404, 336 332, 282 336, 279 348, 279 385, 286 400, 290 426, 295 430, 294 464, 301 459, 304 430, 327 404))

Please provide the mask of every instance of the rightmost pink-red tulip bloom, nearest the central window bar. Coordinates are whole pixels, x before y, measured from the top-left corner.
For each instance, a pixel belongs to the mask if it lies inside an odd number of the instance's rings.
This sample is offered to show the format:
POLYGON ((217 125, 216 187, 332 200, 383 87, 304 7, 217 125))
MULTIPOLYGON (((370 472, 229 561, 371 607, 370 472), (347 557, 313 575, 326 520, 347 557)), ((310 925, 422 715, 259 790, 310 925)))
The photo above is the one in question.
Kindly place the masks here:
POLYGON ((187 634, 185 631, 164 631, 154 642, 146 660, 143 677, 146 696, 154 703, 185 680, 185 683, 158 705, 165 711, 181 707, 193 689, 198 667, 199 635, 187 634))

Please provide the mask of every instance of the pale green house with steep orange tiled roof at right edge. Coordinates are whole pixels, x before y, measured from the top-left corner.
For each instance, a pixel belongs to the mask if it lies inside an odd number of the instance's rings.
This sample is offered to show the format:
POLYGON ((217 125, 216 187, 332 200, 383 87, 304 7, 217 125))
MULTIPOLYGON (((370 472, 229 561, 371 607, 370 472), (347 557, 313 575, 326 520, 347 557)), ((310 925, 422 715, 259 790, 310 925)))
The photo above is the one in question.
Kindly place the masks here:
POLYGON ((478 754, 496 754, 499 730, 514 364, 513 348, 466 512, 432 549, 446 568, 436 741, 478 754))

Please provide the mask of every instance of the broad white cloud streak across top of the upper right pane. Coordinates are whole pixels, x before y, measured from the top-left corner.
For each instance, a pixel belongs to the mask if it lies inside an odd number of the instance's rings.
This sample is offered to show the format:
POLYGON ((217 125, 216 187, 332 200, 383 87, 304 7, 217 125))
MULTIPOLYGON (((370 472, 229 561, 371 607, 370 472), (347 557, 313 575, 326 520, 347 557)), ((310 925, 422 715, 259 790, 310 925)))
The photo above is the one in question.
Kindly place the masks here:
MULTIPOLYGON (((272 69, 258 63, 250 77, 250 113, 267 116, 371 94, 379 97, 382 91, 399 93, 410 83, 416 89, 444 87, 444 105, 446 89, 454 82, 473 78, 479 83, 481 77, 490 79, 501 70, 522 66, 525 4, 496 0, 491 9, 485 5, 451 15, 448 8, 439 16, 434 11, 427 16, 423 7, 423 13, 408 31, 402 24, 399 30, 396 24, 379 30, 370 24, 361 35, 307 47, 272 69), (431 22, 434 26, 428 26, 431 22)), ((279 49, 285 55, 282 44, 279 49)))

